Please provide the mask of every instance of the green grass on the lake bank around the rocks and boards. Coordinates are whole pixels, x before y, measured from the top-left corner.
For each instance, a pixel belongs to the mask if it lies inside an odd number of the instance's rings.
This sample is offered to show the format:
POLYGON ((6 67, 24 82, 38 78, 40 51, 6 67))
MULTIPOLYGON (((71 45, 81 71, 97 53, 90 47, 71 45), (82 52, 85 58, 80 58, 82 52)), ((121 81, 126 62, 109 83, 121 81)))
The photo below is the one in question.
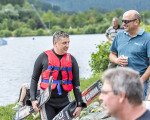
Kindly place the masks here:
MULTIPOLYGON (((97 81, 100 78, 101 78, 101 74, 96 74, 89 79, 84 79, 84 78, 80 79, 81 91, 84 91, 87 87, 92 85, 95 81, 97 81)), ((72 91, 71 91, 71 97, 72 99, 74 99, 74 95, 72 91)), ((99 100, 98 98, 96 98, 94 101, 99 101, 99 100)), ((12 120, 12 115, 15 114, 15 111, 12 110, 11 108, 14 107, 15 105, 16 103, 7 105, 5 107, 0 107, 0 120, 12 120)), ((30 115, 27 118, 27 120, 33 120, 33 116, 30 115)), ((38 117, 36 120, 40 120, 40 118, 38 117)))

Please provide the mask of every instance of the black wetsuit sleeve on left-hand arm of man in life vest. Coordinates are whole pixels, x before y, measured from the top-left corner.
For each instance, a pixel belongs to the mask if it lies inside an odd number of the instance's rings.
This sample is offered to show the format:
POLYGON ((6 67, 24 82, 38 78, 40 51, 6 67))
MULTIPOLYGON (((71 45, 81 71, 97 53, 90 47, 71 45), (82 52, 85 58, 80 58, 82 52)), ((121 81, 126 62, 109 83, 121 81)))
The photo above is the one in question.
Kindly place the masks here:
POLYGON ((31 87, 30 87, 31 101, 36 100, 38 81, 39 81, 39 77, 42 73, 42 70, 44 68, 44 63, 46 60, 47 60, 47 55, 45 53, 42 53, 38 56, 38 58, 35 61, 32 79, 31 79, 31 87))

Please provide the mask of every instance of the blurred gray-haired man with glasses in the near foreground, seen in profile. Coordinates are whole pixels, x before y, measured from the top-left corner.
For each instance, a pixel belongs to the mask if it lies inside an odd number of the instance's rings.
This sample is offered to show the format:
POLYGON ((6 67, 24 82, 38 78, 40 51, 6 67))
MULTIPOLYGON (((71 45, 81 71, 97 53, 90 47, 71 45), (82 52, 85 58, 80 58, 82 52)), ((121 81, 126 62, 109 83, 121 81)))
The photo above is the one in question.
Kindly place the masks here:
POLYGON ((150 111, 142 104, 143 85, 139 72, 131 68, 108 69, 99 100, 105 112, 117 120, 150 120, 150 111))

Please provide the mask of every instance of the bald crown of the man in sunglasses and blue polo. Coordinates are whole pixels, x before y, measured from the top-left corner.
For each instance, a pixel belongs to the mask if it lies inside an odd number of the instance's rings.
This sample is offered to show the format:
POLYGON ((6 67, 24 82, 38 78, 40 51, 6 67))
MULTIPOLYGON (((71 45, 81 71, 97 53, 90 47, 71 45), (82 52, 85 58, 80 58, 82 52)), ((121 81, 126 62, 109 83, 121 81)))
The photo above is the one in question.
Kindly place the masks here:
POLYGON ((141 16, 136 10, 129 10, 123 14, 123 16, 130 18, 130 20, 138 19, 139 24, 141 22, 141 16))

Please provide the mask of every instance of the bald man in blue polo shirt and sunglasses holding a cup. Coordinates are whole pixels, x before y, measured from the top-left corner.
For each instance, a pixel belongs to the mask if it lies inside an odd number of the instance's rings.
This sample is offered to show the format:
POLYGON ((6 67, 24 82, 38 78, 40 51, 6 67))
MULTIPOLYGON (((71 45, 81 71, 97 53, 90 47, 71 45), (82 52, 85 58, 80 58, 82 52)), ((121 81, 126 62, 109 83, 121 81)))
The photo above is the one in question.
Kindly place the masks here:
POLYGON ((123 14, 124 31, 119 32, 110 47, 110 61, 139 71, 144 83, 145 100, 150 77, 150 34, 140 28, 140 14, 129 10, 123 14))

